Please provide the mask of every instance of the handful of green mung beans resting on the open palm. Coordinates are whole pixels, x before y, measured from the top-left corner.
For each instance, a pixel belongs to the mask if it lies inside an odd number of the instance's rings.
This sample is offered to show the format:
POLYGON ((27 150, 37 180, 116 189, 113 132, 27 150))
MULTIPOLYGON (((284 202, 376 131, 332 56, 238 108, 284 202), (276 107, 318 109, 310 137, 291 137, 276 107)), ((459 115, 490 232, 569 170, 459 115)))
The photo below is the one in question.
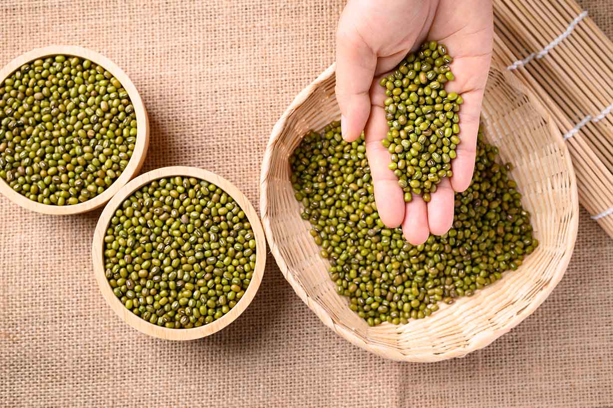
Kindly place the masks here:
POLYGON ((454 79, 453 61, 443 44, 424 43, 381 79, 386 89, 385 111, 389 132, 383 146, 392 155, 389 168, 398 177, 405 201, 412 193, 430 201, 444 177, 451 177, 451 160, 460 143, 458 111, 462 96, 445 91, 454 79))

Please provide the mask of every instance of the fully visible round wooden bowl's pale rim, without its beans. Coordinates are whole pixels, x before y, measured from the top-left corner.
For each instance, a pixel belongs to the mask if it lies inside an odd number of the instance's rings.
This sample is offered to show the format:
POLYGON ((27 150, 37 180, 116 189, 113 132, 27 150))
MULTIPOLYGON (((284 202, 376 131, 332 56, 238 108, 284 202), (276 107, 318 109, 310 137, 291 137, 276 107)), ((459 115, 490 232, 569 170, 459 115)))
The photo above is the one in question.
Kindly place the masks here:
POLYGON ((107 303, 109 303, 113 311, 121 317, 121 320, 146 335, 169 340, 192 340, 219 332, 219 330, 232 323, 243 313, 243 311, 245 311, 247 306, 249 306, 249 303, 251 303, 251 300, 253 300, 256 295, 257 289, 262 281, 262 276, 264 275, 264 266, 266 264, 266 239, 264 231, 262 230, 262 224, 251 202, 249 202, 245 195, 228 180, 207 170, 194 167, 172 166, 151 170, 145 174, 141 174, 126 184, 115 196, 113 196, 109 204, 104 207, 96 225, 92 246, 92 258, 94 261, 94 275, 96 275, 96 280, 102 292, 102 296, 107 303), (171 176, 196 177, 196 179, 206 180, 226 191, 245 212, 249 223, 251 223, 251 228, 253 228, 256 239, 256 268, 253 271, 253 277, 245 291, 245 295, 237 302, 234 308, 230 309, 230 311, 224 314, 220 319, 200 327, 166 328, 143 320, 126 309, 123 303, 121 303, 121 300, 113 294, 109 281, 107 281, 104 275, 104 236, 106 235, 107 227, 109 226, 110 219, 113 217, 115 210, 121 205, 124 199, 128 198, 128 196, 143 185, 162 177, 171 176))

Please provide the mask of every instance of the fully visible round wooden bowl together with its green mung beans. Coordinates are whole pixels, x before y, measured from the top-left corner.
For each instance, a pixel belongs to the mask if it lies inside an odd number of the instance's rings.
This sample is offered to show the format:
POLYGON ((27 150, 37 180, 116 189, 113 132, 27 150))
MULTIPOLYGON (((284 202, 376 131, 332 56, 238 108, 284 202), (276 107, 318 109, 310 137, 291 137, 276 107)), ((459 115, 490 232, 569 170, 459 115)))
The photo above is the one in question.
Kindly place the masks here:
POLYGON ((99 218, 92 250, 112 310, 140 332, 172 340, 202 338, 237 319, 266 260, 245 195, 186 166, 155 169, 121 188, 99 218))

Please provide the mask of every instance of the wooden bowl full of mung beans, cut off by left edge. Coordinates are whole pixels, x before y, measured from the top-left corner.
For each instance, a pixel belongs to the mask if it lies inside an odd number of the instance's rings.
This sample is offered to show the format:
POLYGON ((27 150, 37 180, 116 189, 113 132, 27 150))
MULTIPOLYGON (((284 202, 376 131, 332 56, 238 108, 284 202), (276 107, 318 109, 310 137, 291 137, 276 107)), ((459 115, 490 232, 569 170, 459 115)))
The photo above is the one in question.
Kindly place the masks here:
POLYGON ((47 46, 0 70, 0 193, 21 207, 101 207, 137 174, 148 139, 139 92, 101 54, 47 46))

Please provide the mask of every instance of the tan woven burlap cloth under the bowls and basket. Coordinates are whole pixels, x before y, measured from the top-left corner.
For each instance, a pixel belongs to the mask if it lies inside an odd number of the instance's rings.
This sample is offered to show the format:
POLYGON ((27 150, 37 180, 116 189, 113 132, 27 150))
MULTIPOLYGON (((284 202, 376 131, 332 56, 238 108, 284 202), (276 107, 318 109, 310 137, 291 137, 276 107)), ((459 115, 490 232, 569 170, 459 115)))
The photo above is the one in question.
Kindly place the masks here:
MULTIPOLYGON (((613 2, 582 6, 613 35, 613 2)), ((278 117, 334 57, 336 0, 0 3, 0 64, 82 45, 131 76, 151 119, 143 171, 219 172, 258 203, 278 117)), ((324 327, 268 256, 248 310, 210 338, 148 338, 104 303, 91 268, 99 211, 26 212, 0 197, 0 406, 613 406, 613 241, 582 211, 549 299, 460 360, 395 363, 324 327)))

